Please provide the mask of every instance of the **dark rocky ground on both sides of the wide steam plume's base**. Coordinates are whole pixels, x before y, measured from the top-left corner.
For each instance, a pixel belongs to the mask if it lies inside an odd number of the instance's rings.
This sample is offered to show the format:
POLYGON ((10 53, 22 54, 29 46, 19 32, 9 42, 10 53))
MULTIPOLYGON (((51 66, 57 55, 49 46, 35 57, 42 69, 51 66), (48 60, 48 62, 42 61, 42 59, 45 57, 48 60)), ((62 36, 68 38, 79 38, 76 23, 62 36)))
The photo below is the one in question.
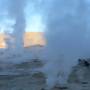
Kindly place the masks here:
MULTIPOLYGON (((46 77, 37 69, 43 66, 38 60, 0 67, 0 90, 44 90, 46 77)), ((52 90, 90 90, 90 68, 78 64, 73 67, 68 84, 52 90)))

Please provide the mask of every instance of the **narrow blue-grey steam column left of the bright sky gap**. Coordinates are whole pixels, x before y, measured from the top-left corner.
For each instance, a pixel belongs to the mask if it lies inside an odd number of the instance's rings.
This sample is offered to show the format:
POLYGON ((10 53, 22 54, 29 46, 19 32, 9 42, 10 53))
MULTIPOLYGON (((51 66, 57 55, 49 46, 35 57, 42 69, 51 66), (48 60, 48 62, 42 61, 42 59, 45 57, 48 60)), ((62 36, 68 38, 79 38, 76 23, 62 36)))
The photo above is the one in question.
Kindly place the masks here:
POLYGON ((13 38, 14 38, 14 47, 22 48, 23 47, 23 37, 26 27, 24 9, 26 6, 27 0, 9 0, 8 14, 11 19, 15 20, 13 26, 13 38))

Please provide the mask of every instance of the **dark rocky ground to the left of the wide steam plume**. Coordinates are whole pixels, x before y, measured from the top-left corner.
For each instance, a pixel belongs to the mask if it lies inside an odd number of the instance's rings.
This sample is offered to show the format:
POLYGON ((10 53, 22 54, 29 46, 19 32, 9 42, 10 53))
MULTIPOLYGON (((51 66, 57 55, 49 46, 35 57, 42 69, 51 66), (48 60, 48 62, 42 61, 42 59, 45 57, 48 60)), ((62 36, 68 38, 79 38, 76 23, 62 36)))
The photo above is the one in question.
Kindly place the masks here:
POLYGON ((0 90, 41 90, 45 85, 45 77, 35 68, 38 69, 42 65, 36 60, 21 64, 5 64, 0 72, 0 90))

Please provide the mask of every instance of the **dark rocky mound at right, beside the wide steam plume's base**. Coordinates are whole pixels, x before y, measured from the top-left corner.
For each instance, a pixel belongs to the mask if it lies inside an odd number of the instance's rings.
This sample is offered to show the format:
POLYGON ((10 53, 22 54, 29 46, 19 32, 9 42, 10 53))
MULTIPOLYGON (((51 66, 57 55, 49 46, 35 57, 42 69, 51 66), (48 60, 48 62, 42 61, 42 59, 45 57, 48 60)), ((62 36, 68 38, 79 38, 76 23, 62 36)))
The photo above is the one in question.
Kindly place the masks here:
MULTIPOLYGON (((90 59, 86 59, 90 63, 90 59)), ((83 83, 90 82, 90 66, 85 65, 84 60, 72 68, 68 82, 70 83, 83 83)))

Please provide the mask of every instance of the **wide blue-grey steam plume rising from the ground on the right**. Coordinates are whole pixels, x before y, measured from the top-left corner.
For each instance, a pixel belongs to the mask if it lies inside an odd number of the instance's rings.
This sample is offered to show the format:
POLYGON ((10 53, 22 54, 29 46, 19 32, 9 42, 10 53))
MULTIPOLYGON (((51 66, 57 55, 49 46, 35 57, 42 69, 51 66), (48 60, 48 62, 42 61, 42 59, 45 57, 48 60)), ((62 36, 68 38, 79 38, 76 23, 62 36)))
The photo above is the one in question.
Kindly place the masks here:
POLYGON ((48 88, 65 84, 78 58, 90 55, 89 8, 86 0, 52 0, 47 12, 48 62, 44 68, 48 88), (59 80, 59 81, 58 81, 59 80))

